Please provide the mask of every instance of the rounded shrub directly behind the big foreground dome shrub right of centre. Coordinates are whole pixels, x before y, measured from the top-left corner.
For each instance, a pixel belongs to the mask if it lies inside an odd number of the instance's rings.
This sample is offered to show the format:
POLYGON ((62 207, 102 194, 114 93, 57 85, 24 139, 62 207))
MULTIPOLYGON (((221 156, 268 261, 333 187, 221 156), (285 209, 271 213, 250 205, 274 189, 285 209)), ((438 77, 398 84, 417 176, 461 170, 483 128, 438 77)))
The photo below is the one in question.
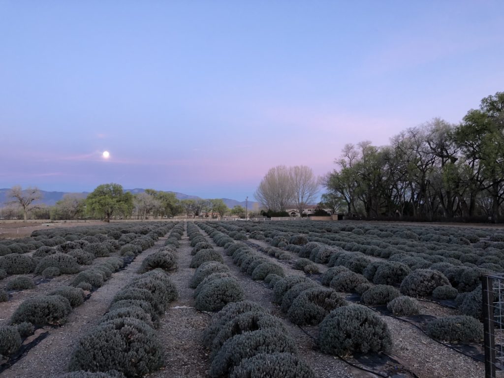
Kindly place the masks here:
POLYGON ((334 290, 313 287, 302 291, 287 311, 289 320, 298 325, 317 325, 336 307, 346 305, 334 290))

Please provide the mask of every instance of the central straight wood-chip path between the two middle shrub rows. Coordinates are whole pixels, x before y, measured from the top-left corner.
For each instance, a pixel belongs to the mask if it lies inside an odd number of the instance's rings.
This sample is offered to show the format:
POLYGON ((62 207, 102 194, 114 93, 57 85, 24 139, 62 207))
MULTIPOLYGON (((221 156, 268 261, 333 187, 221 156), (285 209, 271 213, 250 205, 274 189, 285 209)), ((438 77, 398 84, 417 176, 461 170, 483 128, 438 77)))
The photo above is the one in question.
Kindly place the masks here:
POLYGON ((153 378, 206 377, 210 366, 201 337, 211 317, 194 308, 194 290, 189 287, 189 280, 196 269, 189 268, 193 248, 185 235, 184 232, 176 251, 178 269, 170 273, 179 298, 171 303, 156 331, 165 348, 166 366, 149 375, 153 378))

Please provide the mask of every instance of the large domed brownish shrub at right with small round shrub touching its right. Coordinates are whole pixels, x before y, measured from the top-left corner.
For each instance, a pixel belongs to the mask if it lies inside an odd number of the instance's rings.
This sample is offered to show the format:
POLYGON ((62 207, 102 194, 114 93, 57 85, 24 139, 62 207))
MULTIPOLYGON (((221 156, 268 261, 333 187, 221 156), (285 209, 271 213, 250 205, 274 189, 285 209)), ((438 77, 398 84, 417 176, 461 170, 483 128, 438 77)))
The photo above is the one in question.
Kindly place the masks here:
POLYGON ((437 270, 417 269, 401 283, 401 292, 409 296, 429 296, 438 286, 450 285, 445 275, 437 270))

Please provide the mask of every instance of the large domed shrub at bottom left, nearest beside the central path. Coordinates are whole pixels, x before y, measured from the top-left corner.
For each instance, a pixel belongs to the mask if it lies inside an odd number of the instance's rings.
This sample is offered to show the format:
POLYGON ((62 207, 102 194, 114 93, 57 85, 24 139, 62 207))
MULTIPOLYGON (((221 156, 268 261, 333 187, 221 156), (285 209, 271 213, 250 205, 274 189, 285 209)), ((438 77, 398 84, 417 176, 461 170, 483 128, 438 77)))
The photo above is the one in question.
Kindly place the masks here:
POLYGON ((163 366, 163 350, 156 333, 134 318, 116 318, 100 324, 79 340, 69 369, 122 371, 144 375, 163 366))

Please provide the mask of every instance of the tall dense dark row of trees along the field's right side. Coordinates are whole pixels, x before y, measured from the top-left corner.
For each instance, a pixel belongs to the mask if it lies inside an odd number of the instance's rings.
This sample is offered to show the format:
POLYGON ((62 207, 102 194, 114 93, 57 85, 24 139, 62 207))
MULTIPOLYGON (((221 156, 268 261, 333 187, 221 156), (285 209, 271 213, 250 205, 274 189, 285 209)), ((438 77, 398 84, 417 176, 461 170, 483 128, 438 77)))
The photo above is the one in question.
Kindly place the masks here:
POLYGON ((323 205, 368 219, 502 220, 504 92, 459 124, 434 118, 390 145, 347 144, 324 180, 323 205))

